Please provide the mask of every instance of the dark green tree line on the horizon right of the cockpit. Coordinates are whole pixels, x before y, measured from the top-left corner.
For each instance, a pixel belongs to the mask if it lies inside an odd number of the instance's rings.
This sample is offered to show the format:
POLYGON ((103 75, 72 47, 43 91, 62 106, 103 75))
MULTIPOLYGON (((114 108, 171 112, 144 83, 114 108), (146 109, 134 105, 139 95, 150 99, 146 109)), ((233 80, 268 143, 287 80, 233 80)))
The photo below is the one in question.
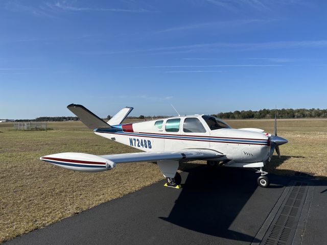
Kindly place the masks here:
POLYGON ((255 118, 323 118, 327 117, 327 109, 262 109, 259 111, 234 111, 213 114, 222 119, 255 119, 255 118))

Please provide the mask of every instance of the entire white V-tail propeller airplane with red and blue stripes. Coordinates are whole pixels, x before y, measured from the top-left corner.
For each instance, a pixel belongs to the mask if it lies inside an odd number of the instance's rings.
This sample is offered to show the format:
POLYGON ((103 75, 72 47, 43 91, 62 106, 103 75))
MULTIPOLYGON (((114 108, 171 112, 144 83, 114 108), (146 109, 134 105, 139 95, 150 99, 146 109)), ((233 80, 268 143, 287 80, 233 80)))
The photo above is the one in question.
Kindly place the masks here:
POLYGON ((180 161, 206 160, 209 167, 247 167, 259 170, 258 185, 269 186, 268 173, 262 167, 270 162, 278 145, 288 141, 274 133, 245 128, 232 129, 225 122, 209 115, 176 116, 164 119, 121 124, 132 107, 123 108, 108 122, 82 105, 71 104, 67 108, 78 116, 95 134, 142 150, 140 153, 116 155, 91 155, 86 153, 57 153, 40 159, 54 165, 76 171, 105 171, 117 163, 157 162, 166 186, 180 187, 177 173, 180 161))

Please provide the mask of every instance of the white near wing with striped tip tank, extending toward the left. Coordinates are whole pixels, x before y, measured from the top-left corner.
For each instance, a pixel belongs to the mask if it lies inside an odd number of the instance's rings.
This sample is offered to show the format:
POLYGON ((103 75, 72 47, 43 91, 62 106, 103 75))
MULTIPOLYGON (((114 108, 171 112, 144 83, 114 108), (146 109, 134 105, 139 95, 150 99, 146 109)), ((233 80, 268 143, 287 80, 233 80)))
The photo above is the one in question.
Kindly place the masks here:
POLYGON ((86 153, 57 153, 40 157, 42 161, 76 171, 105 171, 112 169, 116 163, 152 162, 162 160, 196 160, 219 159, 224 154, 206 149, 187 149, 172 152, 139 152, 116 155, 91 155, 86 153))

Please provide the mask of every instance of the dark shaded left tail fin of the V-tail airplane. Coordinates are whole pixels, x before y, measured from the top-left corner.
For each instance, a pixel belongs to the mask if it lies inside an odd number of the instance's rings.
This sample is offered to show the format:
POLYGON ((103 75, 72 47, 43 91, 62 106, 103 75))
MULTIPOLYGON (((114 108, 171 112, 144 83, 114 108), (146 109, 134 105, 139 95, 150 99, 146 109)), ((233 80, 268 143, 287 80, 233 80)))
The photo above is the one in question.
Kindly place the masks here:
POLYGON ((86 109, 82 105, 71 104, 67 106, 68 110, 77 115, 89 129, 104 129, 111 128, 110 125, 107 124, 100 117, 86 109))

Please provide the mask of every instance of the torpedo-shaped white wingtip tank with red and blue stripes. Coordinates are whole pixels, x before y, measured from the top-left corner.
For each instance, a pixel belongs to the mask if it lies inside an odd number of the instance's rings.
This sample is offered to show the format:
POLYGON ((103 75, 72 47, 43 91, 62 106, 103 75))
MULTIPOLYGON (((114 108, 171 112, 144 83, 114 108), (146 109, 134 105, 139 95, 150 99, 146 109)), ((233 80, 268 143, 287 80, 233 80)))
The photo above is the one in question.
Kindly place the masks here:
POLYGON ((116 166, 113 161, 86 153, 57 153, 40 157, 40 159, 63 168, 84 172, 106 171, 116 166))

